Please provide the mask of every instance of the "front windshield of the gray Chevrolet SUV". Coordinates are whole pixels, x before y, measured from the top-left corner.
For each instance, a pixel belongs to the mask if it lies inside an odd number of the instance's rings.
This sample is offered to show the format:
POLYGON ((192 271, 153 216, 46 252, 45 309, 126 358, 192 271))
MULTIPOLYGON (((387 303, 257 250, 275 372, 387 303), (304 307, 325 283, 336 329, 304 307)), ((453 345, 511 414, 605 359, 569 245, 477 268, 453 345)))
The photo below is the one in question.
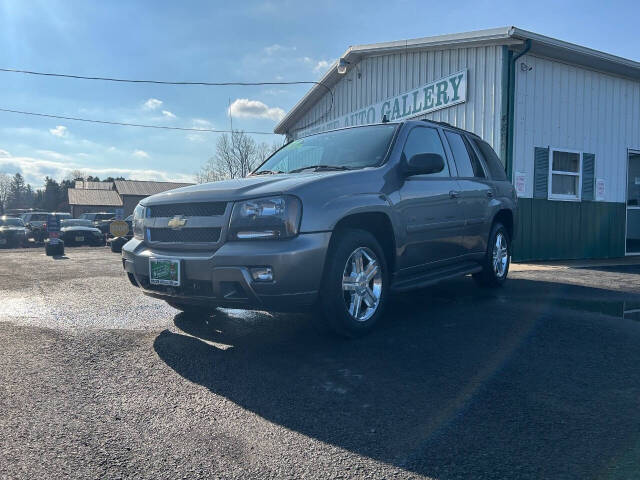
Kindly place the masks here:
POLYGON ((373 125, 301 138, 276 152, 253 174, 290 173, 314 166, 364 168, 384 160, 396 125, 373 125))

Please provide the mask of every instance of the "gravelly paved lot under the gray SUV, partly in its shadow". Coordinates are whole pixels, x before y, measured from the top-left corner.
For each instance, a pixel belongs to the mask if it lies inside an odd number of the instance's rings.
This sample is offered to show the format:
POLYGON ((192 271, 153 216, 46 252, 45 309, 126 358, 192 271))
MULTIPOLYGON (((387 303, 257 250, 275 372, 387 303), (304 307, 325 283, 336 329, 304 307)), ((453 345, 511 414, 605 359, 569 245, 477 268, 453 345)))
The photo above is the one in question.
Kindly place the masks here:
POLYGON ((638 478, 639 274, 517 265, 344 341, 179 314, 106 248, 3 250, 0 478, 638 478))

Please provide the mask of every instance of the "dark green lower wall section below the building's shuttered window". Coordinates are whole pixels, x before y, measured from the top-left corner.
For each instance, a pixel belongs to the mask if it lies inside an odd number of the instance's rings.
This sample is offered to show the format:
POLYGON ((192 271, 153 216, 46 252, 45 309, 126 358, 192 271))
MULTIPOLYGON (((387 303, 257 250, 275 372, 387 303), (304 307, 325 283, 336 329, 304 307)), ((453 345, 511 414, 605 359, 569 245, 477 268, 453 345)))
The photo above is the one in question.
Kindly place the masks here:
POLYGON ((625 222, 624 203, 520 198, 513 260, 623 257, 625 222))

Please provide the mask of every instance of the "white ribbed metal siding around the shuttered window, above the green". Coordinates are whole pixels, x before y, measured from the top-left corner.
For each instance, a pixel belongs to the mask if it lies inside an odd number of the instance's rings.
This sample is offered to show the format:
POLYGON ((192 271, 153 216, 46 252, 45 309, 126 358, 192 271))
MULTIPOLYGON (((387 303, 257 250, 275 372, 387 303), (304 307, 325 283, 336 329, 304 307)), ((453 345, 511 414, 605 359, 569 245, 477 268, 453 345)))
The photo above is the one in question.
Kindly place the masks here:
POLYGON ((640 82, 525 55, 515 95, 514 171, 527 174, 525 197, 533 193, 534 148, 551 146, 595 154, 605 201, 625 201, 627 149, 640 148, 640 82))

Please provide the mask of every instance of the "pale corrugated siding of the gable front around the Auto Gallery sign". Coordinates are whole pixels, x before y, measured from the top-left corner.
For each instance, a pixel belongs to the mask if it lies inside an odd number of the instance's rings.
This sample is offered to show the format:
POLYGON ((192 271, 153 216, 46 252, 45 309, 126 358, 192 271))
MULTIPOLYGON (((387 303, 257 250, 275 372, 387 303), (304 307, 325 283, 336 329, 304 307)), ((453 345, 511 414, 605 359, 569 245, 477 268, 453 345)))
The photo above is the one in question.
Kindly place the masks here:
POLYGON ((467 101, 423 117, 449 122, 477 133, 496 150, 500 148, 502 47, 427 50, 366 57, 351 66, 334 89, 335 104, 325 95, 291 129, 322 124, 367 105, 419 87, 427 82, 468 69, 467 101), (358 78, 358 70, 362 74, 358 78))

